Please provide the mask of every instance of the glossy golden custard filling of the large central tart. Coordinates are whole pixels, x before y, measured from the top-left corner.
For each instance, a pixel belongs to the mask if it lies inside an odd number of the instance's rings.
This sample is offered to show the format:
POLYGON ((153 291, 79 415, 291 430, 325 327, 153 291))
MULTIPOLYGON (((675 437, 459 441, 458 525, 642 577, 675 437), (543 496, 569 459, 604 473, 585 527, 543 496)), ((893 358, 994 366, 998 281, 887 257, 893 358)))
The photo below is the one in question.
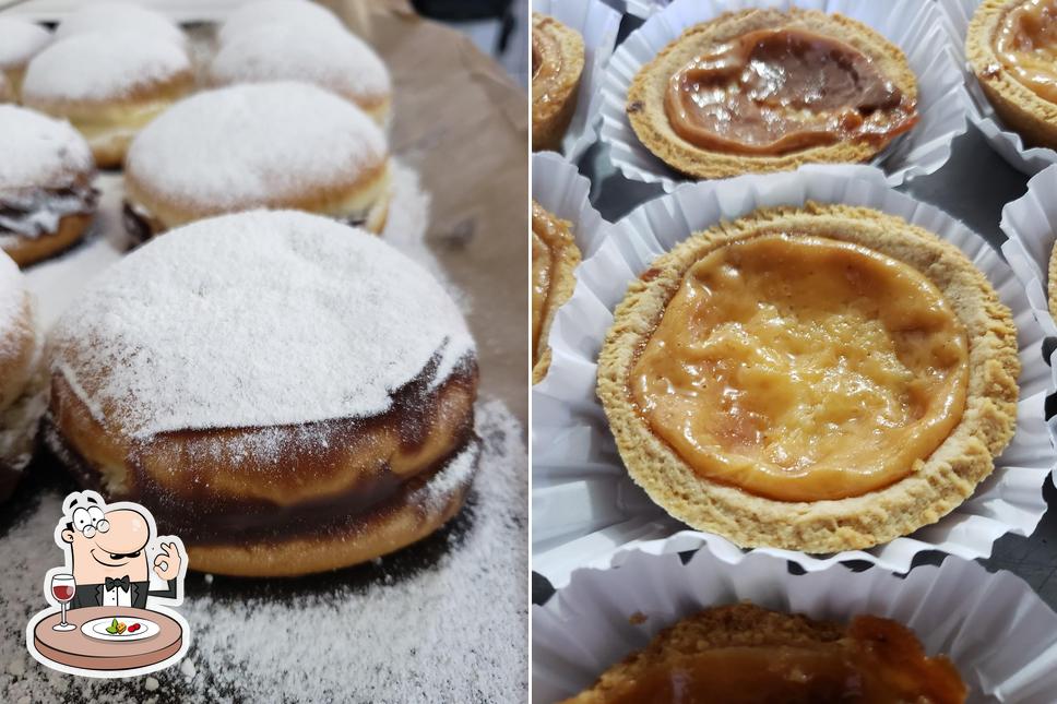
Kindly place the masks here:
POLYGON ((965 329, 876 251, 764 232, 694 263, 629 382, 701 477, 780 501, 856 497, 914 470, 959 423, 965 329))

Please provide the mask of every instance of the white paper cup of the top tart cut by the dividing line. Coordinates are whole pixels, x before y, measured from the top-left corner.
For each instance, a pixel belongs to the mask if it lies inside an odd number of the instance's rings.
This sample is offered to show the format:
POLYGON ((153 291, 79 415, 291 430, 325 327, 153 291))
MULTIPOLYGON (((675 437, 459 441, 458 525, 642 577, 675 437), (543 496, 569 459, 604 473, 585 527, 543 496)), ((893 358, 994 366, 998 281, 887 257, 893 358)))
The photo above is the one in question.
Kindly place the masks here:
POLYGON ((575 162, 598 139, 602 96, 598 87, 620 31, 620 13, 602 0, 533 0, 533 12, 549 14, 583 37, 583 74, 577 111, 561 139, 561 152, 575 162))

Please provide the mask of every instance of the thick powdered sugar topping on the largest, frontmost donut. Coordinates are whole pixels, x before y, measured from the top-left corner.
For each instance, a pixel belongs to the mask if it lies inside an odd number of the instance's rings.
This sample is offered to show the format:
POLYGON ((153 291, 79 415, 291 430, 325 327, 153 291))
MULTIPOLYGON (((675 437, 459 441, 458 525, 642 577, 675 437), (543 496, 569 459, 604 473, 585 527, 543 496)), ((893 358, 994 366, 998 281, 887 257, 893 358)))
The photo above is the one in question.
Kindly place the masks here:
POLYGON ((474 354, 418 264, 306 213, 173 230, 88 286, 52 331, 54 371, 133 438, 370 417, 441 355, 474 354))

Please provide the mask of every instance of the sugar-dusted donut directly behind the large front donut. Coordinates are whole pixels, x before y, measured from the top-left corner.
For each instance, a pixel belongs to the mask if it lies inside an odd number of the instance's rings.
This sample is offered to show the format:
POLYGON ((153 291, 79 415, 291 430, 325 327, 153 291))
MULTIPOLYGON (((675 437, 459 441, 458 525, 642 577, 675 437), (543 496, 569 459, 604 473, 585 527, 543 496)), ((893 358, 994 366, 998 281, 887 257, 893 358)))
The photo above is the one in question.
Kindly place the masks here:
POLYGON ((302 83, 236 85, 180 102, 136 136, 124 179, 126 222, 140 237, 253 207, 380 232, 391 191, 381 129, 302 83))

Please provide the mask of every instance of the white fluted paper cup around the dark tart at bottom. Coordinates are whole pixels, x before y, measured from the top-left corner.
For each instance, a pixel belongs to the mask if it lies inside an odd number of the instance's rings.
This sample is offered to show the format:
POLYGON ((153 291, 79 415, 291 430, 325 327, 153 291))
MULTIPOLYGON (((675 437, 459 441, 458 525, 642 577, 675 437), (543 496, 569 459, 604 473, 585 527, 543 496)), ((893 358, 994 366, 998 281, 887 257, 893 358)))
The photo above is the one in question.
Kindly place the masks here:
POLYGON ((743 600, 815 619, 899 621, 929 655, 951 658, 970 688, 969 704, 1050 704, 1057 692, 1057 614, 1008 572, 947 558, 906 578, 841 568, 792 575, 774 558, 731 563, 701 550, 686 564, 675 554, 638 552, 619 569, 580 570, 533 607, 533 702, 573 695, 679 619, 743 600), (633 614, 645 620, 632 623, 633 614))

